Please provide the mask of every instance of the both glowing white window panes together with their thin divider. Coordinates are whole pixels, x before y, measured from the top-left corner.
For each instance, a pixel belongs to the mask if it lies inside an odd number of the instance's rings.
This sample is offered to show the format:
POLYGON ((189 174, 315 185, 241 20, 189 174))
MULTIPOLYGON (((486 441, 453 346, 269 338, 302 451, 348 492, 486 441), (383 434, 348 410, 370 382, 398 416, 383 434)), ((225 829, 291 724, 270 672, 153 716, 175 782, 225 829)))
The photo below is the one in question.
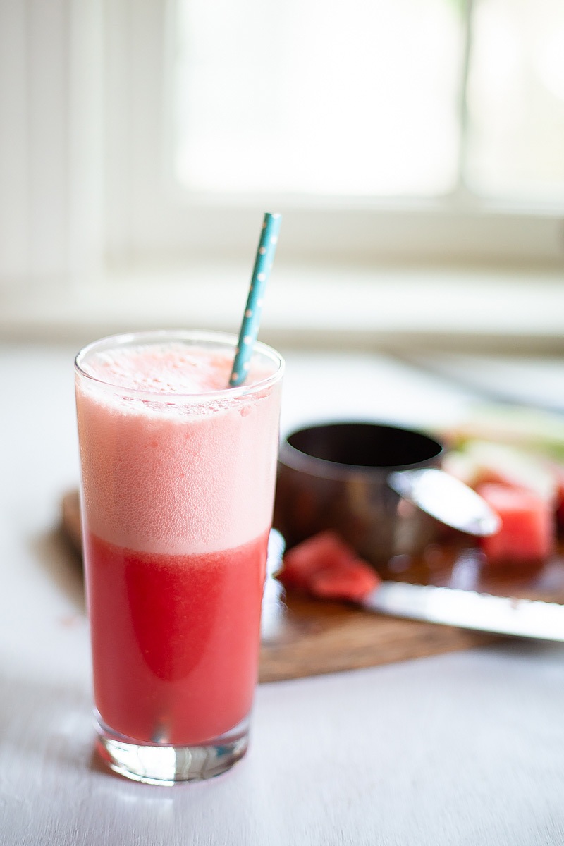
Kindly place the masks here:
POLYGON ((180 0, 175 31, 185 189, 564 197, 561 0, 180 0))

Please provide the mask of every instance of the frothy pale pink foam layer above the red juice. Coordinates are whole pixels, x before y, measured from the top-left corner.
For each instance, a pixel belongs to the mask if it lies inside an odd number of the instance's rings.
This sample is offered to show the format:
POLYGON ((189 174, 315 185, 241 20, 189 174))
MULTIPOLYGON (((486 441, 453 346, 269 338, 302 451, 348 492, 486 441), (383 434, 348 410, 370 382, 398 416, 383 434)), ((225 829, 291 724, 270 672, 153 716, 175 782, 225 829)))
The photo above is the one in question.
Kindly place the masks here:
MULTIPOLYGON (((104 353, 88 372, 168 394, 225 387, 231 360, 185 352, 171 344, 104 353)), ((217 552, 269 527, 279 385, 246 397, 171 404, 170 396, 147 401, 108 393, 79 376, 77 409, 85 522, 103 540, 142 552, 217 552)))

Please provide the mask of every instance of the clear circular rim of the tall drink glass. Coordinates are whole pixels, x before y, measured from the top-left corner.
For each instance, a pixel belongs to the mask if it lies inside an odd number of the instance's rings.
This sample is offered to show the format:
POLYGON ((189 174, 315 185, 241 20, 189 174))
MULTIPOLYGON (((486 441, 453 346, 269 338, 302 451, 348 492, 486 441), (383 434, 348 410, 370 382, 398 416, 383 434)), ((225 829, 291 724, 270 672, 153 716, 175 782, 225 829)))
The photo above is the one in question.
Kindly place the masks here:
POLYGON ((96 348, 103 347, 105 349, 120 349, 129 344, 139 343, 158 343, 167 340, 178 341, 205 341, 216 342, 225 347, 233 349, 233 353, 238 344, 238 336, 230 332, 216 332, 207 329, 150 329, 141 330, 140 332, 123 332, 116 335, 107 335, 104 338, 98 338, 96 341, 87 343, 85 347, 79 350, 74 358, 74 371, 81 377, 88 380, 88 384, 93 384, 102 387, 104 390, 112 393, 127 393, 128 396, 149 399, 152 402, 176 402, 178 400, 195 400, 204 401, 206 399, 222 399, 222 398, 236 398, 243 397, 249 393, 256 393, 271 387, 278 382, 284 373, 286 362, 282 355, 273 347, 268 346, 262 341, 255 341, 253 353, 262 353, 274 365, 277 365, 276 370, 271 373, 266 379, 261 379, 260 382, 253 382, 250 385, 238 385, 237 387, 224 387, 221 390, 205 391, 200 393, 164 393, 162 391, 145 391, 134 387, 125 387, 116 382, 107 382, 105 379, 100 379, 97 376, 92 376, 85 371, 84 363, 86 357, 96 352, 96 348))

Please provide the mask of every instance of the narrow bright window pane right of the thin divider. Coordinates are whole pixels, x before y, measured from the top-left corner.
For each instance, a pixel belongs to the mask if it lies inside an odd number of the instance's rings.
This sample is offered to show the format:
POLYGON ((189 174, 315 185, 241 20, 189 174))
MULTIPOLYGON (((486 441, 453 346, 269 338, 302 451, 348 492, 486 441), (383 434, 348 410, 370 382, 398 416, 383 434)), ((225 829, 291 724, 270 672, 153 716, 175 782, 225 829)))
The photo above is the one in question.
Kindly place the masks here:
POLYGON ((468 107, 471 188, 564 197, 562 0, 479 0, 468 107))

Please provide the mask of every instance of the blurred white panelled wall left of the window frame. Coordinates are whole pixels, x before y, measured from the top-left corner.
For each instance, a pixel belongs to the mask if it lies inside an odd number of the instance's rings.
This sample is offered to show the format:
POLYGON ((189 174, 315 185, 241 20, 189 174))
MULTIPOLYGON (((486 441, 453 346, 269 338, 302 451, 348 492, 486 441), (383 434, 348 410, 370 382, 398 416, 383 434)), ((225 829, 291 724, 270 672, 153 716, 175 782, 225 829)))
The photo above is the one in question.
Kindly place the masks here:
POLYGON ((101 0, 0 3, 0 286, 101 262, 101 0))

